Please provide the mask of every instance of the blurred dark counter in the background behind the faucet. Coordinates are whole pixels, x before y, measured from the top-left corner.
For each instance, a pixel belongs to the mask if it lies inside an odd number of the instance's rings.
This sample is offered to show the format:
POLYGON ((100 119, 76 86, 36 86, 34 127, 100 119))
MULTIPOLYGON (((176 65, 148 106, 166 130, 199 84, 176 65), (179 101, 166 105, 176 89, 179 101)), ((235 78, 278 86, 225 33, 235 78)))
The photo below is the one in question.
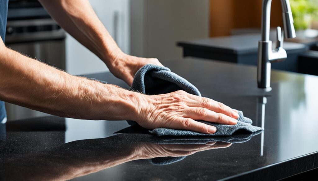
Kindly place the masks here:
MULTIPOLYGON (((184 57, 198 57, 211 60, 234 62, 245 65, 257 65, 258 42, 260 34, 220 36, 198 40, 179 41, 184 57)), ((275 38, 275 37, 274 37, 275 38)), ((273 48, 276 40, 273 41, 273 48)), ((299 73, 298 56, 305 53, 309 46, 302 43, 285 41, 286 61, 272 63, 273 69, 299 73)))

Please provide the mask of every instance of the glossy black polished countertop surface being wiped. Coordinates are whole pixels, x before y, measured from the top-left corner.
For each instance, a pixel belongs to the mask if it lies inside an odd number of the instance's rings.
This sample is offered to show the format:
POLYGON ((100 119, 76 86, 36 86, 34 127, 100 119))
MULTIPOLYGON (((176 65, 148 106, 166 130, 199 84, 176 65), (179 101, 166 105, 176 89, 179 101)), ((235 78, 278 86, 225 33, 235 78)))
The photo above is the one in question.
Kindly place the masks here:
MULTIPOLYGON (((277 180, 318 168, 317 76, 272 71, 266 93, 257 88, 254 66, 162 63, 265 130, 231 144, 157 138, 125 121, 10 121, 0 127, 0 180, 277 180)), ((110 73, 87 77, 128 88, 110 73)))

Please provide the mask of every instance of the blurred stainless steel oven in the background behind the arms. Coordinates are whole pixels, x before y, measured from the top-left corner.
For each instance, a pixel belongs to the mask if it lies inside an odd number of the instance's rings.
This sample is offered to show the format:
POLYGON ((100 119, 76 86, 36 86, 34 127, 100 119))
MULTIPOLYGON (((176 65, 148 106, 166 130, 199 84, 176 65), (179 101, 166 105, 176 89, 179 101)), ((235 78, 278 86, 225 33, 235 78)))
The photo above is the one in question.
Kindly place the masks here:
MULTIPOLYGON (((65 70, 65 36, 38 1, 9 0, 7 47, 65 70)), ((6 109, 8 120, 47 115, 9 103, 6 109)))

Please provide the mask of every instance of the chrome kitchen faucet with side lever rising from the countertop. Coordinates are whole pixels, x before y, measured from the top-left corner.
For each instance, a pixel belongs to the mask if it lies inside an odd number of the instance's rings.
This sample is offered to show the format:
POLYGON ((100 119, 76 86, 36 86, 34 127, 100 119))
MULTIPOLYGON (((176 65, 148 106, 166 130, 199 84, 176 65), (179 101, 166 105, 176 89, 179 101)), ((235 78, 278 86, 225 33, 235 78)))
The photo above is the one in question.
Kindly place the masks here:
MULTIPOLYGON (((296 37, 294 20, 289 0, 280 0, 283 10, 284 32, 286 38, 296 37)), ((277 27, 276 48, 272 50, 272 41, 269 40, 272 0, 263 0, 261 40, 257 62, 257 84, 259 88, 270 88, 271 62, 284 61, 287 58, 283 48, 284 33, 277 27)))

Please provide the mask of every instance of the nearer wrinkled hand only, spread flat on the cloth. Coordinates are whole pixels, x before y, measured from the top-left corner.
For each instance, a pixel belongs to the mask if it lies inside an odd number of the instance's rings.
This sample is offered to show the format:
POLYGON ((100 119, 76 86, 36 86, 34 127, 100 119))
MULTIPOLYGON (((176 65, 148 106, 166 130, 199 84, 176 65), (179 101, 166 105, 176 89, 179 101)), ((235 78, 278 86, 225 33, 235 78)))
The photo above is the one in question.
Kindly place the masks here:
POLYGON ((195 120, 235 125, 239 114, 215 100, 176 91, 169 94, 146 95, 140 102, 137 123, 145 128, 158 127, 215 133, 216 127, 195 120))

